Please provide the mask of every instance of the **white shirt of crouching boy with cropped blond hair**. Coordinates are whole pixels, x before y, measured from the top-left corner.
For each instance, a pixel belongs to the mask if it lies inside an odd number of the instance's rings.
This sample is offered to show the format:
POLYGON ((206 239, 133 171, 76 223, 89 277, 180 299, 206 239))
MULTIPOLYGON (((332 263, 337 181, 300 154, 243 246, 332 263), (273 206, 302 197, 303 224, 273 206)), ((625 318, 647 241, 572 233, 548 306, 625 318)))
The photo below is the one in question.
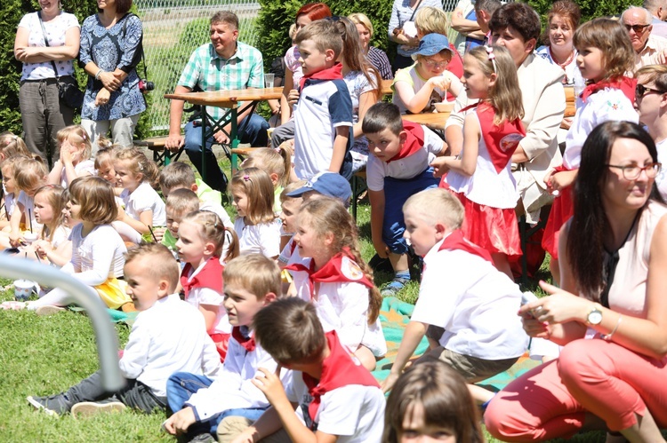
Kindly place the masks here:
POLYGON ((482 257, 463 250, 424 257, 419 298, 411 320, 445 328, 440 344, 462 355, 505 360, 526 351, 528 336, 517 315, 521 290, 482 257))

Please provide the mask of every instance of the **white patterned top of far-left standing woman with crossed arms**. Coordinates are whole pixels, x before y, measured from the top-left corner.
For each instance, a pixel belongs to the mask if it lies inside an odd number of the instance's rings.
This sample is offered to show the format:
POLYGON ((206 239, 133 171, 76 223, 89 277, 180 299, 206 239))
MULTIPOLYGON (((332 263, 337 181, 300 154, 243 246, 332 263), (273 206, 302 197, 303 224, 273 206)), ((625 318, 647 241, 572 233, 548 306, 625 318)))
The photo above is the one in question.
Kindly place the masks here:
MULTIPOLYGON (((39 25, 39 18, 36 12, 24 15, 19 22, 19 28, 28 29, 28 46, 46 46, 44 44, 44 32, 42 32, 42 27, 39 25)), ((46 36, 49 38, 49 46, 64 46, 65 35, 69 28, 80 27, 75 15, 68 12, 60 12, 60 15, 53 20, 44 21, 44 29, 46 30, 46 36)), ((54 63, 58 68, 58 75, 72 75, 74 73, 72 60, 54 60, 54 63)), ((43 78, 54 78, 55 76, 51 61, 43 61, 41 63, 23 63, 20 79, 41 80, 43 78)))

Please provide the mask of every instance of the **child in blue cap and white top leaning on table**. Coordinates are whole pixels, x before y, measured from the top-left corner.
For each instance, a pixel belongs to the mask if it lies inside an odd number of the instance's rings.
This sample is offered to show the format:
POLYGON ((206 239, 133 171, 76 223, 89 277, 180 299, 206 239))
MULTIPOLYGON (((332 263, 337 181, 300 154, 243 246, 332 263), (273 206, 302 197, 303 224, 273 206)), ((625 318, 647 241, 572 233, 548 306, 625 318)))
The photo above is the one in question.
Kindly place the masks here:
POLYGON ((419 49, 412 54, 416 63, 398 69, 391 85, 391 101, 401 114, 431 112, 434 102, 446 99, 447 91, 454 97, 463 91, 461 80, 446 70, 452 55, 446 36, 429 34, 422 38, 419 49))

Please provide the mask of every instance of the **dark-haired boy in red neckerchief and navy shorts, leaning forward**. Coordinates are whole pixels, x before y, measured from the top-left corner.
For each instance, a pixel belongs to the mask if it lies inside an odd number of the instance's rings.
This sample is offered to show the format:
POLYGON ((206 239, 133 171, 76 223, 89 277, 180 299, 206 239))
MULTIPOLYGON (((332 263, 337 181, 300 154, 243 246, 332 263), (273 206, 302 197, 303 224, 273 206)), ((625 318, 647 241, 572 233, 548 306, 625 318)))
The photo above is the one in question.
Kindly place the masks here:
POLYGON ((366 165, 371 237, 378 256, 389 257, 395 273, 382 289, 382 296, 389 297, 410 280, 403 203, 410 195, 438 186, 430 162, 446 144, 421 124, 404 122, 398 107, 390 103, 370 107, 362 130, 372 154, 366 165))

